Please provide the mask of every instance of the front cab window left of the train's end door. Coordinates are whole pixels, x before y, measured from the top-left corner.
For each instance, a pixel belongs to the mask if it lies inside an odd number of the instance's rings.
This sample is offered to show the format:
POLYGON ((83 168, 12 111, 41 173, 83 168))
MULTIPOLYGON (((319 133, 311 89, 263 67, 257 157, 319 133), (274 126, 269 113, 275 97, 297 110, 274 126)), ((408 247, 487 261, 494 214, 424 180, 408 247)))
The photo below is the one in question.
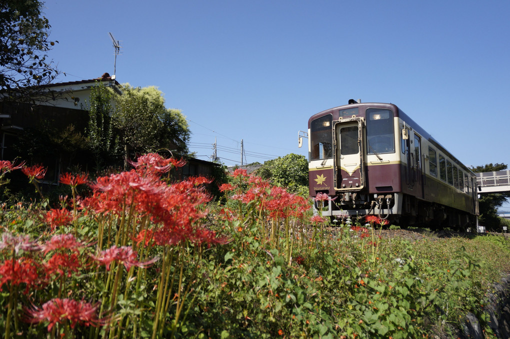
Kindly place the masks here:
POLYGON ((317 118, 310 124, 310 142, 312 150, 310 160, 327 159, 333 157, 333 126, 331 114, 317 118))

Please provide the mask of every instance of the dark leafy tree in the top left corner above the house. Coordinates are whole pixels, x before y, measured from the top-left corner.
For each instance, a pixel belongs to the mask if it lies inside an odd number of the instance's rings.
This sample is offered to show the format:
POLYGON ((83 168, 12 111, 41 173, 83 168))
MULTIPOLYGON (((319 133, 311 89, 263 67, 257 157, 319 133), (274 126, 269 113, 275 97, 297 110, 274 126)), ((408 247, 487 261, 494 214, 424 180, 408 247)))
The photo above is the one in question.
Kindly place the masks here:
POLYGON ((58 71, 46 52, 58 41, 48 40, 50 25, 38 0, 0 0, 0 92, 34 100, 41 85, 58 71))

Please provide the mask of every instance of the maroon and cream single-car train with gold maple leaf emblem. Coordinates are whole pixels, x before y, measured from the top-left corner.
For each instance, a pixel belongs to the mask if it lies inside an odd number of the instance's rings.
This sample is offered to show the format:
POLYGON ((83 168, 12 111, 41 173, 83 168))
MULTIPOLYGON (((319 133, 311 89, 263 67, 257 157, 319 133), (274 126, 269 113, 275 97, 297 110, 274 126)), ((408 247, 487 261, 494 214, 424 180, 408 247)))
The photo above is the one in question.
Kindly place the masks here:
POLYGON ((312 116, 308 136, 310 196, 334 199, 323 216, 476 224, 476 176, 397 106, 351 99, 312 116))

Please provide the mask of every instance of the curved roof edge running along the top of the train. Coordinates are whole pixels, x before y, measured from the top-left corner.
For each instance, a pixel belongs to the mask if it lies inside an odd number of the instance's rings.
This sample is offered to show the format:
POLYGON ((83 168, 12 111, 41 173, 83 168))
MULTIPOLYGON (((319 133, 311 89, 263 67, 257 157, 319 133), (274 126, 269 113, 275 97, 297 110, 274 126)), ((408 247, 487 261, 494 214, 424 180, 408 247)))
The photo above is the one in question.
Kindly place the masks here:
POLYGON ((317 119, 317 118, 319 118, 321 116, 324 116, 326 114, 333 114, 333 112, 335 112, 335 111, 338 112, 340 110, 346 110, 346 109, 355 108, 355 107, 359 107, 359 108, 362 108, 364 110, 366 110, 368 108, 381 108, 381 109, 388 109, 388 110, 391 110, 391 111, 395 112, 395 116, 400 117, 405 122, 406 126, 411 127, 415 131, 417 131, 418 134, 422 136, 422 138, 427 139, 428 142, 430 142, 432 145, 436 146, 442 153, 444 153, 448 158, 450 158, 453 162, 455 162, 455 164, 457 164, 458 166, 461 166, 464 170, 473 173, 473 171, 469 167, 467 167, 466 165, 461 163, 457 158, 455 158, 443 145, 441 145, 428 132, 426 132, 425 129, 423 129, 420 125, 418 125, 413 119, 411 119, 411 117, 409 115, 405 114, 394 103, 386 103, 386 102, 363 102, 363 103, 359 103, 359 102, 353 102, 353 103, 349 103, 348 105, 337 106, 337 107, 324 110, 322 112, 319 112, 319 113, 314 114, 313 116, 311 116, 310 119, 308 120, 308 126, 310 128, 310 123, 312 122, 312 120, 315 120, 315 119, 317 119))

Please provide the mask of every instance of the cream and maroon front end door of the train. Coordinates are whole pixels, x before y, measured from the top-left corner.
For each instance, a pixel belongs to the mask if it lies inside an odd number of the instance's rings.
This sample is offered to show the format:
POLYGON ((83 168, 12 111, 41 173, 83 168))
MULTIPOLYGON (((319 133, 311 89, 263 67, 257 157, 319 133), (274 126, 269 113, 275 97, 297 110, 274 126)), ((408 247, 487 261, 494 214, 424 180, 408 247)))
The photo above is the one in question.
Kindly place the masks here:
POLYGON ((365 186, 363 163, 363 121, 351 118, 337 121, 335 135, 335 189, 356 191, 365 186))

